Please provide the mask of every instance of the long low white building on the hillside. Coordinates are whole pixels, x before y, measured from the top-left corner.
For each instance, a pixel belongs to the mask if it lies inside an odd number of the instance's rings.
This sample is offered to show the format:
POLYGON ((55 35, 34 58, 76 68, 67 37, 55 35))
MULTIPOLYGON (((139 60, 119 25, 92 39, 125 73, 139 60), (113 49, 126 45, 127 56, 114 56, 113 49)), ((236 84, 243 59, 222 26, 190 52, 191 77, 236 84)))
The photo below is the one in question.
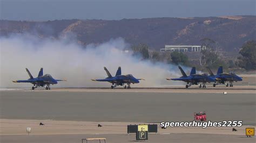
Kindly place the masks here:
POLYGON ((160 52, 200 52, 203 49, 206 49, 206 47, 194 45, 165 45, 165 48, 161 48, 160 52))

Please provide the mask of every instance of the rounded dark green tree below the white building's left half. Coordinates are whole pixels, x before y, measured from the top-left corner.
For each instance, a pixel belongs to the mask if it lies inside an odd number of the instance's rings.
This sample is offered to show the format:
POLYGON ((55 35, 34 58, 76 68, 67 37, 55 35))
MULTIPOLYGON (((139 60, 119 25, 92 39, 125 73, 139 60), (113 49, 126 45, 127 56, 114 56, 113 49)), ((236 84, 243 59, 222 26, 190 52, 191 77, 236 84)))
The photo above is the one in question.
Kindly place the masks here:
POLYGON ((172 52, 171 60, 172 63, 175 63, 176 65, 189 65, 187 55, 183 54, 182 52, 172 52))

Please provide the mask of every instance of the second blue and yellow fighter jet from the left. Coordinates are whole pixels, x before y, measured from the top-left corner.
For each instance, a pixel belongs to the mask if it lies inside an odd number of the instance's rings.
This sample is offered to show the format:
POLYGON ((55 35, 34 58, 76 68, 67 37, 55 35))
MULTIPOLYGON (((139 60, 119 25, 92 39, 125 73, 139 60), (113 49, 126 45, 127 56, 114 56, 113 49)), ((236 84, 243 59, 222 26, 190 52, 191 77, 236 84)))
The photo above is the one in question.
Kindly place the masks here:
POLYGON ((118 67, 117 69, 117 73, 116 76, 112 76, 109 72, 109 70, 107 70, 106 67, 104 67, 104 70, 106 71, 106 74, 108 77, 106 77, 105 79, 96 79, 96 80, 92 80, 92 81, 106 81, 106 82, 110 82, 112 83, 111 85, 111 89, 113 89, 114 87, 121 85, 124 86, 124 89, 130 89, 131 88, 131 83, 139 83, 139 80, 144 80, 142 78, 135 78, 133 77, 131 74, 129 75, 121 75, 121 67, 118 67), (127 84, 127 87, 126 85, 127 84))

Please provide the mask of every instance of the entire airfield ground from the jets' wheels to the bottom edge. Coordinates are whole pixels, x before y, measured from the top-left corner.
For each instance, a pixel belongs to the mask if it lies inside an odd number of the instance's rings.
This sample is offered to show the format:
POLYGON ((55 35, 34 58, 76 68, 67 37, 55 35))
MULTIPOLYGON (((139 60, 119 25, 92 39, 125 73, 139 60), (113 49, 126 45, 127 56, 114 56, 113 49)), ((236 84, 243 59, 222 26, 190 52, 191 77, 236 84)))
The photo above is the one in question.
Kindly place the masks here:
POLYGON ((0 91, 0 142, 133 142, 130 124, 192 121, 206 111, 207 120, 243 120, 242 127, 168 127, 149 134, 147 142, 255 142, 245 128, 255 127, 255 87, 234 88, 52 88, 0 91), (224 95, 223 92, 228 94, 224 95), (45 126, 39 126, 40 122, 45 126), (102 124, 103 127, 97 127, 102 124), (25 128, 32 132, 26 135, 25 128))

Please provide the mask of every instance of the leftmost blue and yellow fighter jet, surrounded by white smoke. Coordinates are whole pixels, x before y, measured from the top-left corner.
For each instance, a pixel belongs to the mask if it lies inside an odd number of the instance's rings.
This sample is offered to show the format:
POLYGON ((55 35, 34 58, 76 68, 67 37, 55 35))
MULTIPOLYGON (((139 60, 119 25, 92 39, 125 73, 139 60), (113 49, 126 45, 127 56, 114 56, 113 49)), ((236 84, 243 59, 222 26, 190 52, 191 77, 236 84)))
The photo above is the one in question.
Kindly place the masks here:
POLYGON ((55 80, 51 75, 45 74, 43 75, 43 68, 40 69, 38 76, 36 78, 33 78, 29 70, 26 68, 26 72, 29 74, 28 80, 18 80, 18 81, 12 81, 12 82, 29 82, 33 84, 32 90, 34 90, 37 87, 44 87, 46 90, 50 90, 50 84, 57 84, 58 81, 66 81, 66 80, 55 80))

